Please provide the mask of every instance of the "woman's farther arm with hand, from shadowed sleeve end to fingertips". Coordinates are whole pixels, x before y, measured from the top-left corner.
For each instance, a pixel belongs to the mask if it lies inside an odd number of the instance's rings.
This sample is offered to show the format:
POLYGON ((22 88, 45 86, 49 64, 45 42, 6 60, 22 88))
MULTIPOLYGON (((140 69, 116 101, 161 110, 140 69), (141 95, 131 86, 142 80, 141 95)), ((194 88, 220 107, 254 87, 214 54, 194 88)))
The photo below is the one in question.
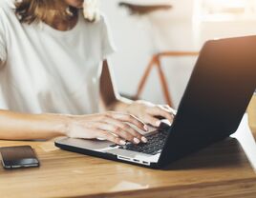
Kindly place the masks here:
POLYGON ((175 110, 168 106, 132 101, 121 97, 117 92, 111 68, 106 60, 103 63, 100 77, 100 93, 105 109, 134 114, 140 120, 155 127, 160 126, 160 120, 157 117, 172 121, 175 114, 175 110))

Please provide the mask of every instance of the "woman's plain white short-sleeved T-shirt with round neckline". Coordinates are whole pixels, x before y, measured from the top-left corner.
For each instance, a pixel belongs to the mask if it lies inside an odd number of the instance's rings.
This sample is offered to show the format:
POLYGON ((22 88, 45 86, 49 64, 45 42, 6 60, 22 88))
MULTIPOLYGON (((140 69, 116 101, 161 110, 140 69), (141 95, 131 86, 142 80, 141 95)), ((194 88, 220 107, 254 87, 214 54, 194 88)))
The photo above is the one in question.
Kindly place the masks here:
POLYGON ((113 51, 103 16, 89 23, 80 11, 75 28, 60 31, 42 22, 21 24, 10 4, 1 0, 0 109, 97 112, 99 63, 113 51))

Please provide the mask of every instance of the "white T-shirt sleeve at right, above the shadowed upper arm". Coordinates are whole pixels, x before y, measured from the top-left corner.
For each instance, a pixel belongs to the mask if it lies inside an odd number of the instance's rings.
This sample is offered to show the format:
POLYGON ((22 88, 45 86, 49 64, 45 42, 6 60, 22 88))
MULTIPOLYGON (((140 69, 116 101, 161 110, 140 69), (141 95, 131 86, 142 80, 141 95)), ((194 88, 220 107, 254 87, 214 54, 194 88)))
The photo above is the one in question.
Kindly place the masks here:
POLYGON ((102 39, 102 57, 106 59, 109 55, 116 51, 116 46, 114 44, 113 35, 110 30, 108 21, 104 16, 102 17, 102 27, 101 27, 101 39, 102 39))

